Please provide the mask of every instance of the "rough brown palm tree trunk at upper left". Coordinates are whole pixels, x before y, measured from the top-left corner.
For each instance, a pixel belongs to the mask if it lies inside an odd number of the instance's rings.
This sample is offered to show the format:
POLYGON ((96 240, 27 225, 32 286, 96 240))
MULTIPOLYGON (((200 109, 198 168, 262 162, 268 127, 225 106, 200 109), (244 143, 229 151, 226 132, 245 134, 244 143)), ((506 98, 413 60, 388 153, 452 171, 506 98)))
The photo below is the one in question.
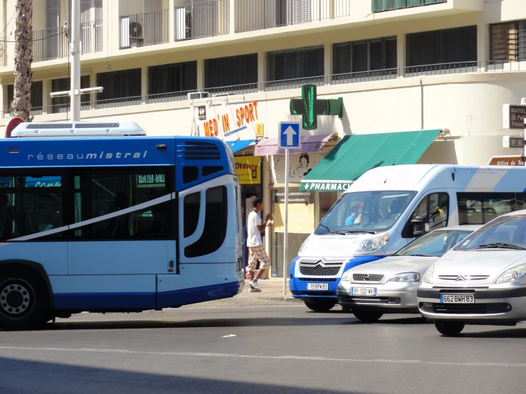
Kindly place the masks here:
POLYGON ((13 115, 26 122, 31 116, 31 63, 33 62, 33 0, 16 0, 15 82, 13 115))

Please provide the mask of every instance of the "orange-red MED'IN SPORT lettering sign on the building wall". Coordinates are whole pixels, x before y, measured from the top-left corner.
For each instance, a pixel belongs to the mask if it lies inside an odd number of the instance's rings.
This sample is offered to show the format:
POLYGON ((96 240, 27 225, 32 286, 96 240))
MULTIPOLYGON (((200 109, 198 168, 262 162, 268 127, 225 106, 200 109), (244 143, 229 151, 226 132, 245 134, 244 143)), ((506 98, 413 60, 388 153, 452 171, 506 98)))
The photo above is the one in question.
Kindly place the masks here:
MULTIPOLYGON (((252 124, 259 119, 258 102, 253 101, 244 105, 228 108, 228 112, 218 114, 216 117, 203 122, 205 137, 218 137, 219 133, 228 134, 229 132, 241 131, 245 129, 248 124, 252 124), (234 117, 235 116, 235 117, 234 117)), ((209 112, 211 112, 209 110, 209 112)))

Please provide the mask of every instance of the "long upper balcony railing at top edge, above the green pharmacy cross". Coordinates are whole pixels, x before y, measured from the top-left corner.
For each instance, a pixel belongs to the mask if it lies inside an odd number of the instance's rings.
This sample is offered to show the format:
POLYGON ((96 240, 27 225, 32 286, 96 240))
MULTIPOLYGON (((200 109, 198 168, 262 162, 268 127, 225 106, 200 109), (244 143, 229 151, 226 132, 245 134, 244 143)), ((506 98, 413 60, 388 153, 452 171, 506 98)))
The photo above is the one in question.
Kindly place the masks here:
POLYGON ((235 0, 236 33, 349 16, 351 0, 235 0))

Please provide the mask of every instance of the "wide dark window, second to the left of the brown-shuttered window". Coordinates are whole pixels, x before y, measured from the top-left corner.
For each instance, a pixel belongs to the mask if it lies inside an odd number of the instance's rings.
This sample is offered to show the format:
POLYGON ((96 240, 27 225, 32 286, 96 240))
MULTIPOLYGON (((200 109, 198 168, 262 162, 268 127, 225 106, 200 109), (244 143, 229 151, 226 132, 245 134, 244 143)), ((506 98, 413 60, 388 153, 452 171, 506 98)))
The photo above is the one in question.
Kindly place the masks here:
POLYGON ((396 37, 337 43, 332 48, 332 56, 335 75, 377 70, 396 74, 396 37))

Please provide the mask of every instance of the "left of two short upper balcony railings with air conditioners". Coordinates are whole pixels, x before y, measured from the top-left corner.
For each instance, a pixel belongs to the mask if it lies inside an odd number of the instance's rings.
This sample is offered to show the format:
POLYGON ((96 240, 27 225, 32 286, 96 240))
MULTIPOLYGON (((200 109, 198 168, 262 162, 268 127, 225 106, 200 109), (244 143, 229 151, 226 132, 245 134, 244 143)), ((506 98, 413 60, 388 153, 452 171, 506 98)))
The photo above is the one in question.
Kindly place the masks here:
POLYGON ((168 42, 167 9, 120 17, 120 48, 136 48, 168 42))

